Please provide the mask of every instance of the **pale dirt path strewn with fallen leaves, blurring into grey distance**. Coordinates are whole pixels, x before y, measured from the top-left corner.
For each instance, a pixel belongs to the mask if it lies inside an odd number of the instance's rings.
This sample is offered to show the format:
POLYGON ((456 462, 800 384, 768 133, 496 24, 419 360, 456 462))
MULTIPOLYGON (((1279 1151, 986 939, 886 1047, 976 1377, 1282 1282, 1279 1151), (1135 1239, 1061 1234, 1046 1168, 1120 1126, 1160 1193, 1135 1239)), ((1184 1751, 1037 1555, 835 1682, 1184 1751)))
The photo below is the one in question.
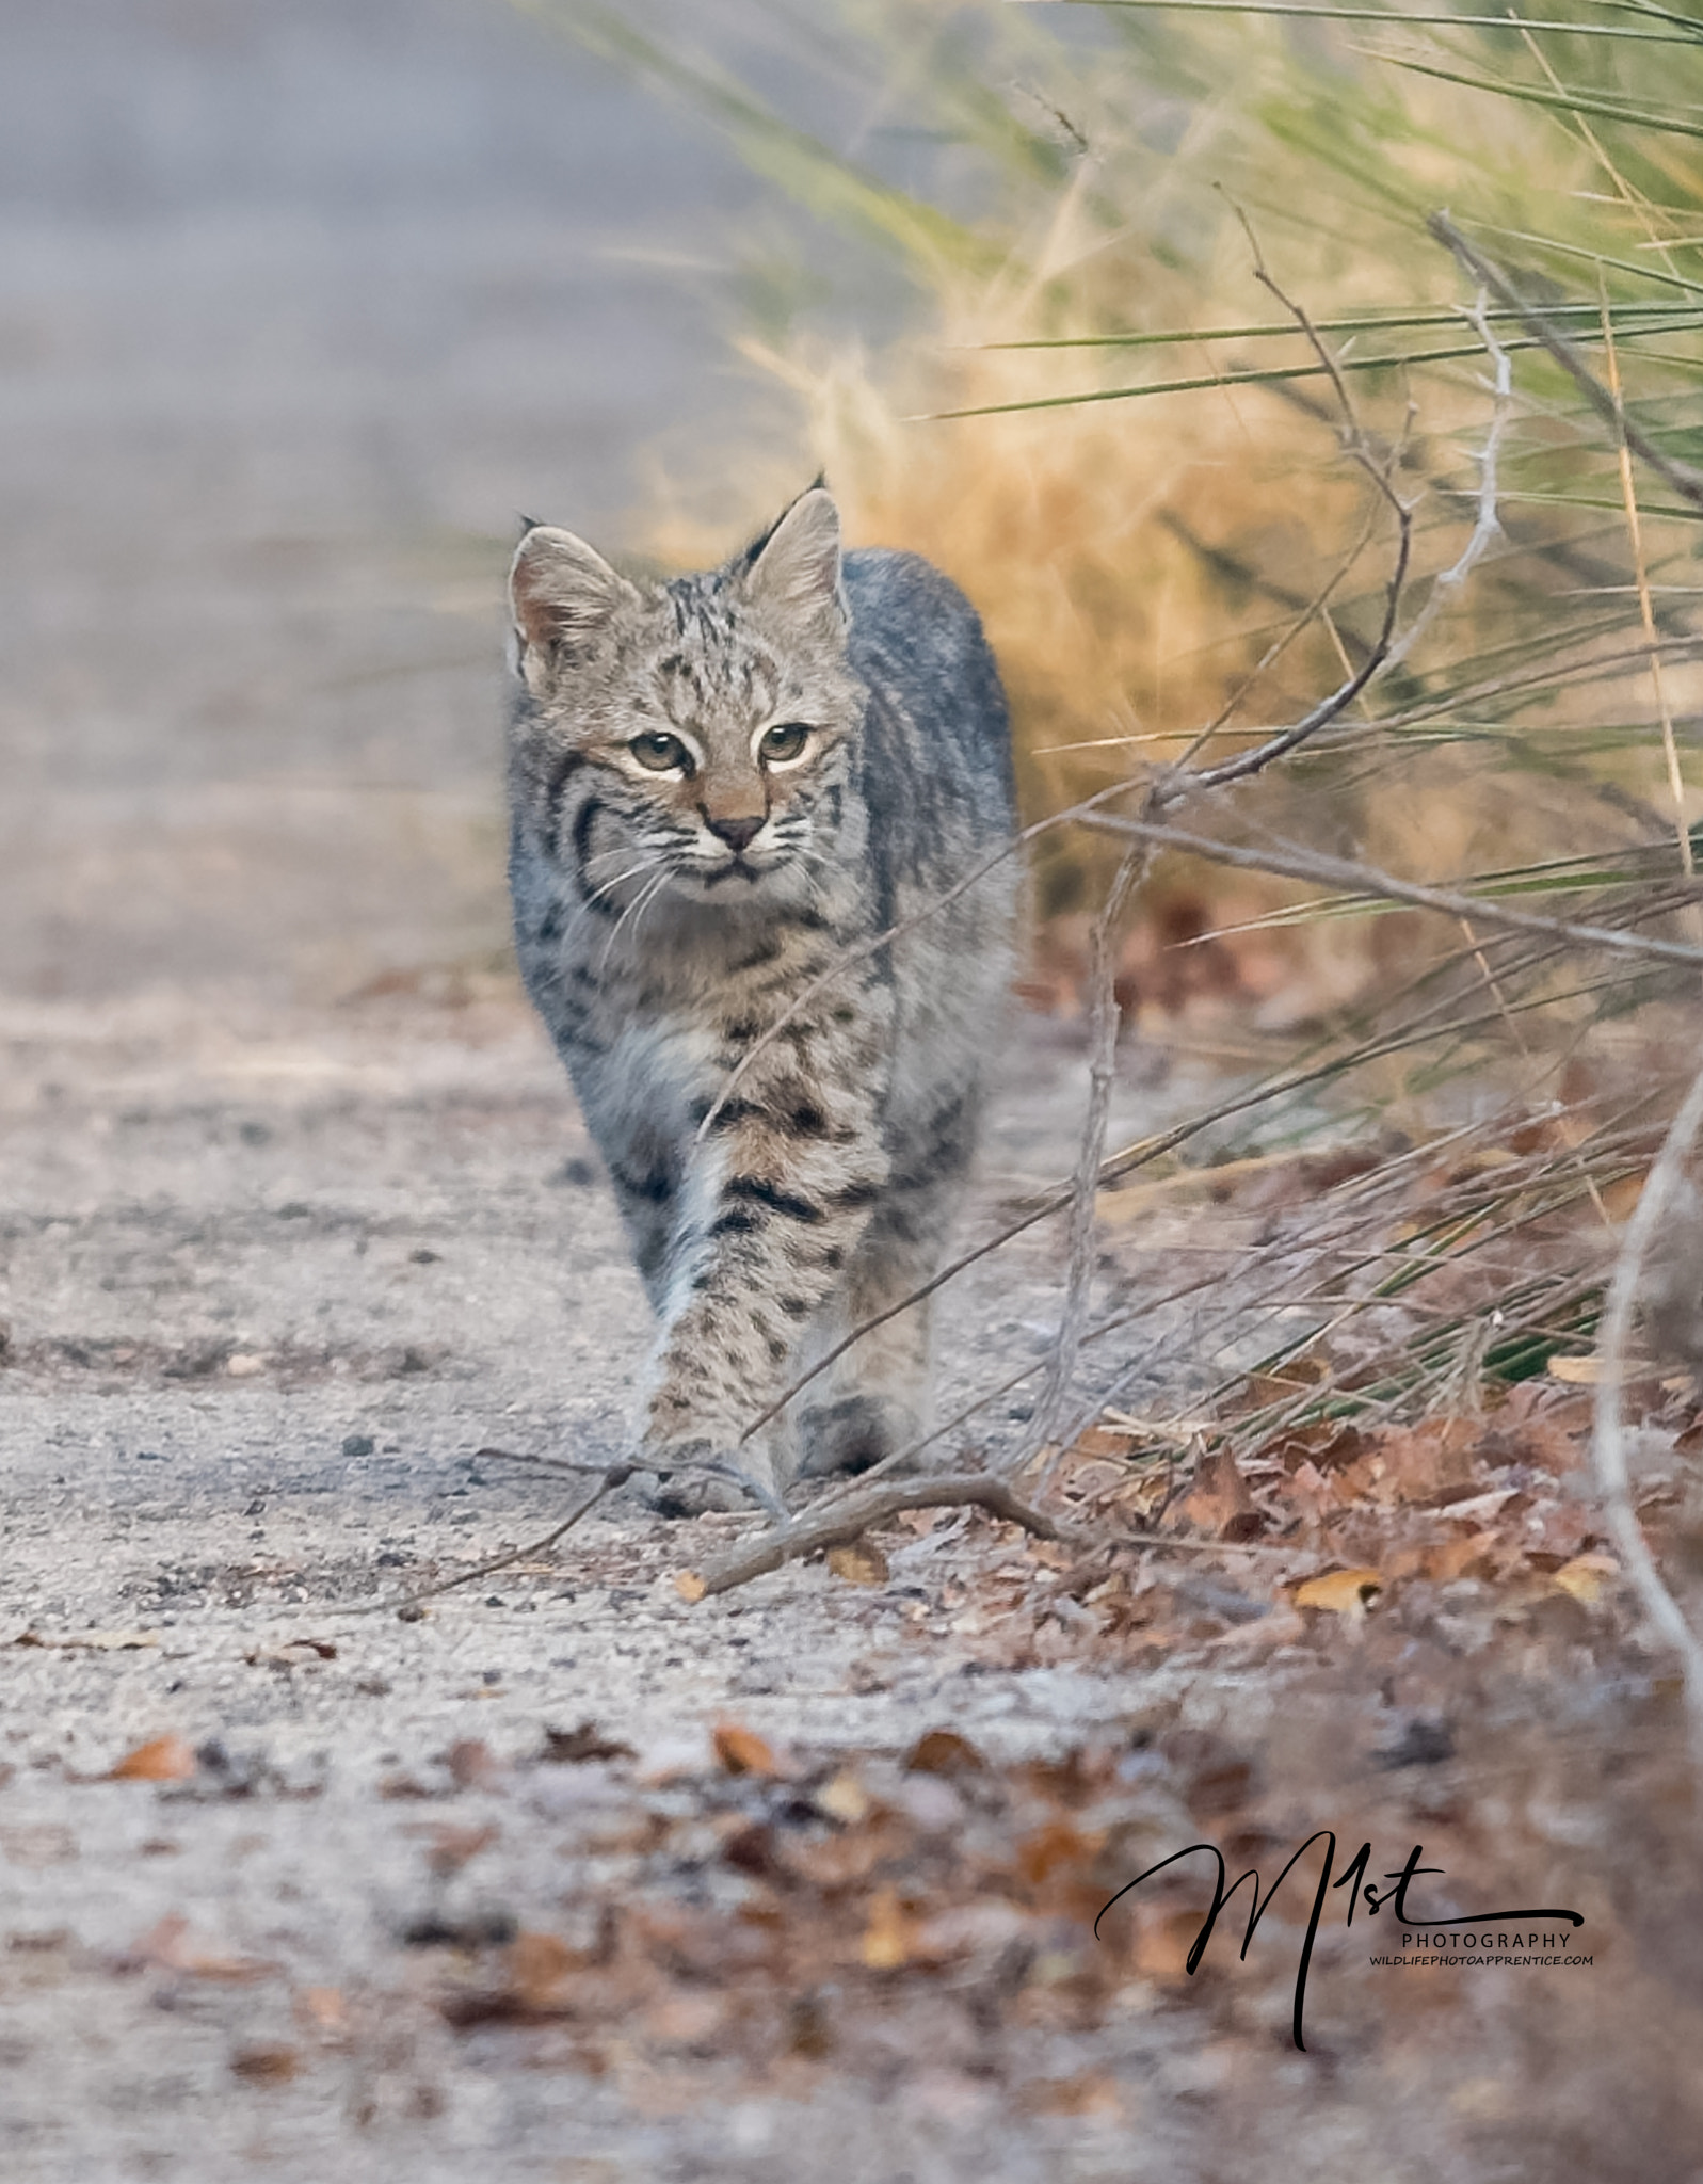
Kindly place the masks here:
MULTIPOLYGON (((786 439, 705 369, 755 192, 485 0, 0 24, 0 2175, 1692 2184, 1694 1804, 1613 1592, 1303 1616, 945 1518, 688 1607, 727 1527, 614 1509, 365 1612, 555 1520, 480 1448, 618 1446, 640 1291, 502 968, 498 587, 515 509, 609 535, 646 450, 786 439), (1299 2053, 1303 1902, 1196 1977, 1199 1891, 1094 1935, 1317 1828, 1596 1966, 1332 1924, 1299 2053)), ((1013 1035, 972 1227, 1079 1070, 1013 1035)), ((1140 1079, 1120 1136, 1188 1090, 1140 1079)), ((1127 1400, 1264 1236, 1118 1227, 1127 1400)), ((948 1402, 1039 1356, 1052 1251, 954 1289, 948 1402)))

